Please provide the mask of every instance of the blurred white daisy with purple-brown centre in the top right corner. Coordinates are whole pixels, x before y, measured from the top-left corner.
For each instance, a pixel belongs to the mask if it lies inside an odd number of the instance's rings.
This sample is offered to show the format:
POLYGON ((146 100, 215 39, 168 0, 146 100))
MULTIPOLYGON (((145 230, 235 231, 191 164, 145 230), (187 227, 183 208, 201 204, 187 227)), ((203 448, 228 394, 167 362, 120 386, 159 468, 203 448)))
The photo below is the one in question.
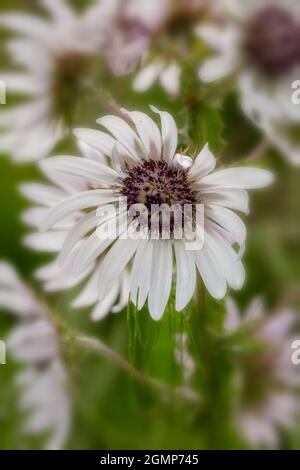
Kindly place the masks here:
POLYGON ((300 164, 299 106, 292 84, 300 75, 300 4, 297 0, 218 0, 218 24, 198 34, 216 51, 200 68, 212 82, 237 74, 241 106, 270 142, 294 164, 300 164))

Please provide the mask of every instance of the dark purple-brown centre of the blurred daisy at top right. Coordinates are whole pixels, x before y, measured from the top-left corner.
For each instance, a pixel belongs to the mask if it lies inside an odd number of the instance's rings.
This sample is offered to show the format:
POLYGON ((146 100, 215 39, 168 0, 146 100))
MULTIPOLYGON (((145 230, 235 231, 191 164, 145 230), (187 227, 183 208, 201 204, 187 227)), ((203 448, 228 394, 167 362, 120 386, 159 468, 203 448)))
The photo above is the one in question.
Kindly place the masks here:
POLYGON ((249 27, 245 49, 265 75, 283 75, 300 64, 300 22, 284 9, 265 8, 249 27))

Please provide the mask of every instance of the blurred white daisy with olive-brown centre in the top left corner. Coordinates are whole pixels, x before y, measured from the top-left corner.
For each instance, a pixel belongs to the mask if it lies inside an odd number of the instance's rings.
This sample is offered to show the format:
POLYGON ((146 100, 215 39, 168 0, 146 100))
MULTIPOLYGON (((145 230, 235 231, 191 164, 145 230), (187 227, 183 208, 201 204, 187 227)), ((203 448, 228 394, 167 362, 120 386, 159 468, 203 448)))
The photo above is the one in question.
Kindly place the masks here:
POLYGON ((0 111, 0 151, 19 162, 48 156, 71 124, 81 80, 97 42, 88 15, 76 15, 64 0, 41 0, 49 19, 25 13, 0 16, 15 32, 7 47, 21 68, 1 71, 7 91, 25 102, 0 111))

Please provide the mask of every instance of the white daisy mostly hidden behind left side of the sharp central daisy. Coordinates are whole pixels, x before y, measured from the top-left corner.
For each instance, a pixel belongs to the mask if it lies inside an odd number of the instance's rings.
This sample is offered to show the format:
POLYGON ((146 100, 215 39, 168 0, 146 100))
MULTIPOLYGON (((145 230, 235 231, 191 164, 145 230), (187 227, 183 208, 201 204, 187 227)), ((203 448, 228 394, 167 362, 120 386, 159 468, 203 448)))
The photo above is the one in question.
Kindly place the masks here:
MULTIPOLYGON (((105 163, 105 157, 93 148, 84 143, 80 144, 80 148, 85 157, 90 161, 105 163)), ((72 307, 91 307, 91 318, 94 321, 103 319, 110 311, 117 313, 123 310, 127 305, 129 297, 129 279, 126 271, 120 276, 119 280, 116 280, 105 298, 99 301, 97 260, 91 263, 79 276, 75 276, 73 272, 76 256, 79 254, 84 240, 82 239, 77 243, 71 256, 68 257, 65 263, 58 259, 58 254, 64 246, 66 239, 68 239, 69 232, 81 219, 85 219, 87 231, 89 223, 91 224, 91 229, 93 228, 93 214, 91 214, 89 222, 85 218, 86 214, 79 210, 71 214, 63 223, 55 224, 47 233, 41 233, 38 230, 51 206, 78 192, 84 192, 89 189, 87 181, 81 177, 52 171, 51 168, 45 169, 44 173, 51 181, 51 184, 27 183, 22 184, 20 187, 23 196, 35 204, 34 207, 27 209, 22 215, 23 222, 33 229, 24 238, 25 246, 34 251, 56 255, 52 262, 36 271, 35 277, 42 282, 44 291, 50 293, 81 287, 84 283, 83 288, 72 302, 72 307)))

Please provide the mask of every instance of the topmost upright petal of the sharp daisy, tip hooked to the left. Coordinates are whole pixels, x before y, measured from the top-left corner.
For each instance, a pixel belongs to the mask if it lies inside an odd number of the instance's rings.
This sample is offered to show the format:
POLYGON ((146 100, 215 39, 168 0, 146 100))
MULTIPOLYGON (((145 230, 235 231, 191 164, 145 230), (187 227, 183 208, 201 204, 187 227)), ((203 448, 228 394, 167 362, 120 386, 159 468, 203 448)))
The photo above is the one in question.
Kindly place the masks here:
POLYGON ((171 114, 159 111, 151 106, 152 111, 160 115, 161 135, 162 135, 162 157, 167 162, 171 162, 177 149, 177 126, 171 114))

